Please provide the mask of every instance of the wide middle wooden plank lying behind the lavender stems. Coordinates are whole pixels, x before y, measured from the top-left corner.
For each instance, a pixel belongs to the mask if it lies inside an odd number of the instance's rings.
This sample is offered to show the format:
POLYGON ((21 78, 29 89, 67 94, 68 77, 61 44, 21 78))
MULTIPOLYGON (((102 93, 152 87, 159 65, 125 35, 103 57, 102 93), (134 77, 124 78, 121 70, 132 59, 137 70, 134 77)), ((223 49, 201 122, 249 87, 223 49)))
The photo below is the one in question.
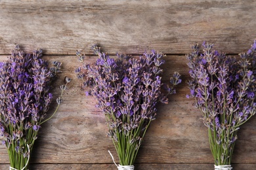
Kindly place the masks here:
MULTIPOLYGON (((0 56, 0 61, 4 59, 5 56, 0 56)), ((73 164, 75 164, 74 169, 83 169, 83 165, 80 164, 87 163, 93 164, 88 169, 96 167, 104 169, 105 165, 101 164, 105 163, 115 169, 108 150, 112 152, 116 161, 117 154, 111 139, 106 137, 107 127, 104 116, 95 108, 95 99, 84 95, 79 86, 80 81, 75 78, 74 70, 79 65, 77 58, 45 56, 45 59, 49 62, 56 60, 63 63, 60 78, 54 85, 54 97, 60 93, 58 86, 62 84, 64 76, 70 76, 72 82, 64 93, 64 102, 58 113, 40 129, 39 138, 33 149, 32 163, 36 166, 39 163, 39 169, 44 166, 52 167, 49 169, 55 169, 55 167, 58 169, 58 166, 70 167, 73 164), (72 165, 58 165, 59 163, 72 165)), ((96 61, 96 56, 87 56, 85 59, 92 63, 96 61)), ((141 166, 139 169, 150 169, 151 165, 165 169, 168 166, 173 167, 173 163, 188 163, 188 167, 190 163, 195 163, 196 165, 192 166, 194 169, 198 165, 202 165, 205 169, 212 169, 213 158, 208 146, 207 129, 200 120, 199 110, 192 107, 193 99, 185 97, 186 93, 189 93, 186 86, 188 79, 186 57, 167 56, 165 60, 163 80, 167 82, 174 71, 179 71, 182 75, 182 84, 177 88, 176 95, 169 96, 168 105, 158 105, 157 118, 146 133, 136 163, 139 163, 139 167, 141 166), (144 167, 147 163, 154 164, 144 167)), ((56 107, 56 104, 53 104, 53 107, 56 107)), ((255 124, 256 118, 252 118, 238 133, 239 139, 232 161, 232 163, 238 163, 238 169, 240 167, 243 169, 243 163, 251 163, 248 166, 255 167, 255 124)), ((7 150, 2 145, 0 146, 0 163, 9 163, 7 150)), ((177 167, 175 164, 173 169, 179 169, 179 165, 182 167, 182 164, 177 164, 177 167)))

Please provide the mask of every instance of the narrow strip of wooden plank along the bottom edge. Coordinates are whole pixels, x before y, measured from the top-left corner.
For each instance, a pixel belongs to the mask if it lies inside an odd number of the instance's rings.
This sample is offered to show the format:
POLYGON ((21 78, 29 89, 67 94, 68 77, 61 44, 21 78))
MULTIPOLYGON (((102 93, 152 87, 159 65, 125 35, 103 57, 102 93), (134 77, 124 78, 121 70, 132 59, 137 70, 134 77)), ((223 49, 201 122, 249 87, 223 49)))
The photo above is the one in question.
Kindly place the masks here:
MULTIPOLYGON (((239 170, 247 170, 247 169, 256 169, 255 163, 240 163, 232 165, 234 169, 239 170)), ((0 169, 9 169, 8 164, 0 165, 0 169)), ((72 169, 72 170, 116 170, 117 167, 114 164, 32 164, 30 165, 30 169, 33 170, 62 170, 62 169, 72 169)), ((212 170, 214 169, 214 165, 210 163, 140 163, 135 164, 135 169, 137 170, 212 170)))

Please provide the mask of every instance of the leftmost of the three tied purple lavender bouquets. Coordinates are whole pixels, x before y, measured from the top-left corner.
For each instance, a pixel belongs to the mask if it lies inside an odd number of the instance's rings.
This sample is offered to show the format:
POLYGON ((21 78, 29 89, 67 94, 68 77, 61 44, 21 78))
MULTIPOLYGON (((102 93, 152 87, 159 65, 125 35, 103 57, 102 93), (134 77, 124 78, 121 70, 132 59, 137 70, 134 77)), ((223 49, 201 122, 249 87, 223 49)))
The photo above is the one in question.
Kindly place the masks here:
MULTIPOLYGON (((51 82, 60 70, 61 63, 54 61, 48 68, 42 50, 25 54, 18 46, 7 61, 0 62, 0 135, 7 146, 10 169, 28 169, 30 152, 37 139, 41 124, 46 118, 53 99, 51 82)), ((67 82, 70 81, 66 78, 67 82)), ((66 85, 62 85, 62 93, 66 85)), ((57 99, 58 106, 61 97, 57 99)))

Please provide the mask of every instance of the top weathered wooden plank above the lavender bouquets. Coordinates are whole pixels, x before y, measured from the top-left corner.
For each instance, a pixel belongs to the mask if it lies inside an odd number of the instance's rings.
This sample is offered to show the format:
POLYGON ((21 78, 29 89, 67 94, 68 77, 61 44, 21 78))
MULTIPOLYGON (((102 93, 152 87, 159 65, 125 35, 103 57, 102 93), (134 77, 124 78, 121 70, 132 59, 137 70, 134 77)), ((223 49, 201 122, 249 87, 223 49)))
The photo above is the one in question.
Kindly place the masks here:
POLYGON ((256 1, 0 1, 0 54, 14 44, 47 54, 75 54, 93 42, 110 54, 160 50, 186 54, 210 41, 221 51, 246 52, 256 38, 256 1))

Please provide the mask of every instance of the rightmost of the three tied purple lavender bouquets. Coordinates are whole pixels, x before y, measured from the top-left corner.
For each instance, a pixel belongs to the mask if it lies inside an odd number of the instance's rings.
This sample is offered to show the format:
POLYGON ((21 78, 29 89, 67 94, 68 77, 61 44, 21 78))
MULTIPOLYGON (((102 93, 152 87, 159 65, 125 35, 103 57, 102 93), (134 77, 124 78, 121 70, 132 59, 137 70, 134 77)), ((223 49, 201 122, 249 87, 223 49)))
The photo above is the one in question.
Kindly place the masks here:
POLYGON ((240 126, 256 112, 256 41, 240 58, 198 44, 187 55, 190 93, 203 113, 215 169, 232 169, 230 163, 240 126))

